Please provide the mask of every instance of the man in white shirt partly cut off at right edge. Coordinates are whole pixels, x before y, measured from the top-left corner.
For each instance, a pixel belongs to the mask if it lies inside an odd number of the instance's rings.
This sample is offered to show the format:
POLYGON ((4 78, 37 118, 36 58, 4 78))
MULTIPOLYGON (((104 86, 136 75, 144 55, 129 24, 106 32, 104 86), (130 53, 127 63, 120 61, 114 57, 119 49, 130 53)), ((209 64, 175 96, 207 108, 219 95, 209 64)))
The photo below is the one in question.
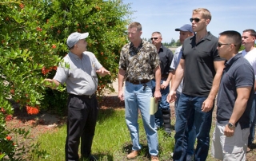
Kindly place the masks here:
MULTIPOLYGON (((256 48, 255 48, 255 39, 256 39, 256 32, 254 29, 246 29, 242 32, 242 45, 245 47, 242 50, 242 56, 244 56, 247 61, 249 61, 250 65, 254 68, 254 74, 256 75, 256 48)), ((250 112, 250 135, 248 138, 248 147, 247 152, 251 150, 252 144, 254 142, 254 130, 255 130, 255 123, 256 123, 256 89, 254 85, 254 101, 250 112)))

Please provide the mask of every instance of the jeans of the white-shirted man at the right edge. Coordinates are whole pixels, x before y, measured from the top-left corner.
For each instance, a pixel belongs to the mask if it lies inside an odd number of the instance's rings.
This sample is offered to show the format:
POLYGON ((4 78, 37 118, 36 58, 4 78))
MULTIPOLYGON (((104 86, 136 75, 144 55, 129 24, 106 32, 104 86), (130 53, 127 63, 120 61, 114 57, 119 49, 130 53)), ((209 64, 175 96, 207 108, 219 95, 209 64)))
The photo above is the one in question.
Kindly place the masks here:
POLYGON ((255 135, 255 123, 256 123, 256 94, 254 94, 253 104, 250 110, 250 135, 248 138, 248 145, 251 145, 254 142, 255 135))

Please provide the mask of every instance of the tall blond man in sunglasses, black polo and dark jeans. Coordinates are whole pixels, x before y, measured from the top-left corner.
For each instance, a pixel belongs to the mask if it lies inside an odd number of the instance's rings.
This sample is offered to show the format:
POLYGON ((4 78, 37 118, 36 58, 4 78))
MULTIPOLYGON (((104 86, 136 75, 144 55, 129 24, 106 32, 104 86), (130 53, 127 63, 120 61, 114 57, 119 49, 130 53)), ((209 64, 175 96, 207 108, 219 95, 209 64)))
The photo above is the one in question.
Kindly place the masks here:
POLYGON ((198 139, 194 160, 206 160, 208 155, 214 99, 224 67, 224 60, 218 56, 218 38, 206 29, 210 20, 209 10, 193 10, 190 22, 196 34, 182 45, 182 58, 168 96, 168 101, 175 100, 176 89, 184 77, 175 124, 174 160, 186 160, 188 134, 193 127, 198 139))

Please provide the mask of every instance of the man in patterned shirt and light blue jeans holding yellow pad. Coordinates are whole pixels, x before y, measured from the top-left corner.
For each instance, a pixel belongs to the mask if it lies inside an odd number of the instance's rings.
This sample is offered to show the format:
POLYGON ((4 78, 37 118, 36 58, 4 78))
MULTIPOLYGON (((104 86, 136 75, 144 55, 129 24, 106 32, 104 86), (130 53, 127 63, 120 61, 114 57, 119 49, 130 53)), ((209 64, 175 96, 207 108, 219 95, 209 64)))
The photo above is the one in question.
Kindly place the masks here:
POLYGON ((151 161, 158 161, 158 133, 154 124, 154 115, 150 115, 150 98, 152 79, 156 81, 154 97, 156 100, 161 97, 160 61, 156 47, 142 40, 141 35, 142 25, 138 22, 130 23, 128 26, 130 42, 122 47, 120 53, 118 98, 125 100, 126 124, 133 143, 132 151, 127 158, 134 159, 142 149, 138 135, 138 110, 140 110, 151 161), (123 81, 126 81, 124 92, 123 81))

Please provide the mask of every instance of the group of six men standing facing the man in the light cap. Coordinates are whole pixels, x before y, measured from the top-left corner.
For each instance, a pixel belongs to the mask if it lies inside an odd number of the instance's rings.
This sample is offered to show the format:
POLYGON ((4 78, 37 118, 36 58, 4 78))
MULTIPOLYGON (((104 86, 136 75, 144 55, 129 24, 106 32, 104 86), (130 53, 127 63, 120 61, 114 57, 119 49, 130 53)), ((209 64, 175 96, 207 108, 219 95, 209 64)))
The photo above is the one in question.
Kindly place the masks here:
POLYGON ((192 26, 175 29, 180 31, 182 47, 175 51, 174 57, 162 46, 161 33, 152 33, 154 47, 140 38, 141 24, 133 22, 128 26, 130 43, 122 48, 118 73, 118 97, 125 100, 126 124, 133 141, 128 159, 135 158, 141 150, 138 138, 140 110, 151 160, 158 160, 156 129, 163 125, 170 134, 170 108, 166 101, 176 100, 173 159, 206 160, 217 94, 217 121, 211 153, 221 160, 246 159, 246 148, 250 149, 255 124, 255 31, 245 30, 241 36, 237 31, 228 30, 219 33, 217 38, 207 31, 210 20, 209 10, 193 10, 192 26), (246 48, 243 54, 239 53, 241 45, 246 48), (151 93, 147 90, 150 88, 159 101, 158 112, 152 116, 149 116, 151 93))

